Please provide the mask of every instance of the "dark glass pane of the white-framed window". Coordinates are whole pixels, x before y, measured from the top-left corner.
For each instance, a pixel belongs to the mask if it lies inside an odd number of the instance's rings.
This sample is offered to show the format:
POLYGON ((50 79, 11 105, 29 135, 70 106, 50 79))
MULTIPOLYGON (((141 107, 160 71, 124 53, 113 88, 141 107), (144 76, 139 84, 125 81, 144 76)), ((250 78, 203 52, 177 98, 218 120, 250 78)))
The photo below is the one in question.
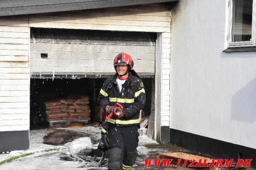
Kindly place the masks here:
POLYGON ((251 41, 253 0, 233 0, 232 42, 251 41))

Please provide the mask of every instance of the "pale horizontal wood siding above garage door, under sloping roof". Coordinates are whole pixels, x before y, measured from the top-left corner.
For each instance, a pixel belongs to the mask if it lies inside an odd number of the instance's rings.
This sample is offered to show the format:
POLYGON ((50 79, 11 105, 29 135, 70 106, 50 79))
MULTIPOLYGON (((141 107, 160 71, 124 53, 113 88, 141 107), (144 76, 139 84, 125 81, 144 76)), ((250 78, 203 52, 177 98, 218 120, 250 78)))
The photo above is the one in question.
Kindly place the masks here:
POLYGON ((29 27, 170 32, 170 11, 158 4, 29 16, 29 27))

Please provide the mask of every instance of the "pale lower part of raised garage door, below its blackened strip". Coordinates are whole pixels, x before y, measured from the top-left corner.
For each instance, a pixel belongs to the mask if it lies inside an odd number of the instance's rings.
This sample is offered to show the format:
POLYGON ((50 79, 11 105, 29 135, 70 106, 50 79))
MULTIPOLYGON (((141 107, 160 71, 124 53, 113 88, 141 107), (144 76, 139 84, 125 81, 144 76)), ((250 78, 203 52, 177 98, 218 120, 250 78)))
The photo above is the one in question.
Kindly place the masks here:
MULTIPOLYGON (((155 73, 155 46, 31 43, 30 72, 115 73, 113 56, 119 51, 131 54, 138 73, 155 73), (143 51, 144 55, 141 55, 143 51), (41 58, 47 53, 48 58, 41 58)), ((15 76, 15 75, 13 75, 15 76)))

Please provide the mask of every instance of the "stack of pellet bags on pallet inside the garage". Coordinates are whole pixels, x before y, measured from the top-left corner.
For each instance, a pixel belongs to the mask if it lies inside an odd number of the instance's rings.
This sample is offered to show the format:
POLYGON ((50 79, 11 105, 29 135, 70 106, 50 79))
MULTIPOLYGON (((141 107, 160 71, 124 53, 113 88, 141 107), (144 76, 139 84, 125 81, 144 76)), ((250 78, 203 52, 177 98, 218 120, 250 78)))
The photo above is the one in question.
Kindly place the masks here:
POLYGON ((70 94, 67 98, 45 101, 46 120, 90 120, 89 99, 85 95, 70 94))

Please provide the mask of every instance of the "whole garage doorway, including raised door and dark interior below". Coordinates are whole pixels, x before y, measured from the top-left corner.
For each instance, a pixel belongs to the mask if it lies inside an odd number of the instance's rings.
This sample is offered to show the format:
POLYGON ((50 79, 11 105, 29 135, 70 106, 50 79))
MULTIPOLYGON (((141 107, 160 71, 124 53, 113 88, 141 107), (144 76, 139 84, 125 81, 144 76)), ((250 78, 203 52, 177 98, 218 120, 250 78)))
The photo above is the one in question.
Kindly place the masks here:
POLYGON ((98 94, 115 74, 113 59, 120 52, 134 60, 146 92, 141 117, 150 115, 155 33, 45 28, 30 33, 30 129, 103 122, 98 94))

